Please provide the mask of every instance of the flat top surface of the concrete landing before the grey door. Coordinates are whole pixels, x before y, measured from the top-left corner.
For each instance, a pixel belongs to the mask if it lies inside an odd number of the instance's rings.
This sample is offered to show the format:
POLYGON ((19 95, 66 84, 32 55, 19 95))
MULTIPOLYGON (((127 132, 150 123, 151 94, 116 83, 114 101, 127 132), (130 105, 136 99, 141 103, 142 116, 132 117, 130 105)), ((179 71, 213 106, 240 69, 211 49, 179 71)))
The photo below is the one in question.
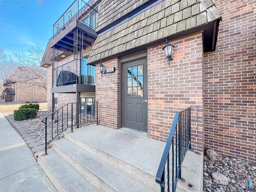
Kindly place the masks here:
POLYGON ((153 176, 156 175, 166 144, 95 124, 76 129, 72 133, 67 132, 65 135, 91 144, 153 176))

